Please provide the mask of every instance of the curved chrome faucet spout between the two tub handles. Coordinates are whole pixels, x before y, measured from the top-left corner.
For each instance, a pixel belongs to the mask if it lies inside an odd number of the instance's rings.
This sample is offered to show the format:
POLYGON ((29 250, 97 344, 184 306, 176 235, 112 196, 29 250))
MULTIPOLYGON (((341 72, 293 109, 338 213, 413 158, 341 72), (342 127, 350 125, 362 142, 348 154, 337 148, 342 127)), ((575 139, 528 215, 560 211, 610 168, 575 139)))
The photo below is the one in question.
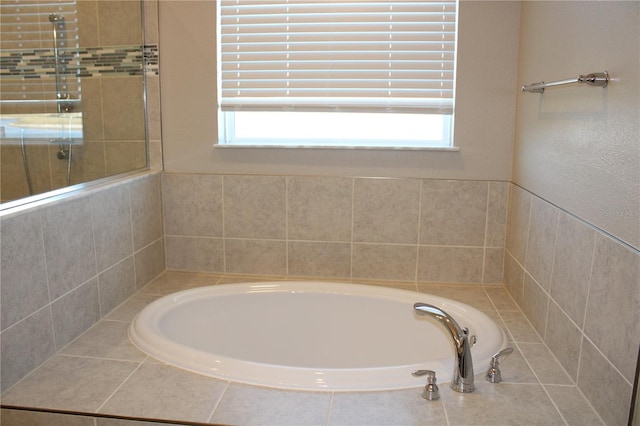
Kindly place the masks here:
POLYGON ((427 315, 437 319, 449 331, 456 353, 451 389, 456 392, 473 392, 475 386, 473 384, 473 359, 471 358, 469 331, 460 327, 451 315, 436 306, 418 302, 413 305, 413 309, 418 315, 427 315))

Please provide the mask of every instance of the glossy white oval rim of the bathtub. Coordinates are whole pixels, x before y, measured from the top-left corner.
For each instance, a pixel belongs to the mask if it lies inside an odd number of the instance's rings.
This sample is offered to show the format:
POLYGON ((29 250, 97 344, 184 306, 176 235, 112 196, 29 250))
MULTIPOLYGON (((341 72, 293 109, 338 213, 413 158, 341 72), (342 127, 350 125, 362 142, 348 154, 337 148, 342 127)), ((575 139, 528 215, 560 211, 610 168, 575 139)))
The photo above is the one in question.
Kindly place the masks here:
MULTIPOLYGON (((411 305, 415 302, 425 302, 426 300, 427 303, 434 304, 444 309, 454 318, 460 318, 460 313, 465 312, 466 314, 472 314, 472 316, 482 324, 491 324, 495 327, 495 335, 491 336, 489 340, 495 341, 493 346, 498 347, 498 349, 489 351, 491 353, 487 352, 483 354, 482 357, 477 360, 476 352, 474 351, 475 348, 472 348, 472 352, 474 354, 474 373, 478 378, 480 378, 481 374, 484 374, 484 367, 485 364, 488 365, 490 356, 507 347, 507 336, 502 328, 487 314, 463 302, 429 293, 420 293, 392 287, 333 281, 259 281, 217 284, 177 291, 151 302, 136 315, 128 329, 129 340, 142 352, 177 368, 220 380, 278 389, 361 392, 418 388, 424 387, 424 378, 413 377, 410 373, 411 371, 425 368, 439 370, 440 372, 446 370, 446 374, 438 375, 439 384, 448 383, 451 380, 450 371, 453 367, 453 357, 435 361, 429 360, 425 363, 405 364, 391 367, 387 366, 382 368, 316 368, 313 369, 316 372, 315 374, 321 374, 322 376, 327 377, 327 379, 319 382, 309 382, 309 380, 299 379, 300 372, 309 374, 309 368, 256 363, 204 353, 198 349, 188 348, 179 343, 168 341, 168 339, 158 334, 149 334, 140 327, 140 323, 148 324, 148 321, 151 321, 154 327, 157 327, 158 318, 160 318, 163 313, 175 304, 188 303, 190 300, 198 299, 202 295, 209 295, 211 292, 216 293, 216 295, 238 295, 244 293, 265 292, 312 293, 317 292, 318 290, 321 290, 322 293, 346 296, 391 299, 393 301, 409 303, 411 305), (202 360, 204 360, 205 364, 211 365, 212 356, 217 358, 214 362, 221 365, 224 372, 220 371, 220 369, 202 366, 202 360), (443 368, 443 363, 447 365, 447 368, 443 368), (262 379, 256 379, 256 377, 263 377, 265 374, 271 377, 271 380, 265 382, 262 379), (335 374, 339 374, 341 379, 336 381, 334 378, 335 374), (370 374, 374 374, 376 376, 379 381, 378 385, 371 385, 370 379, 368 378, 370 374), (398 374, 406 375, 408 379, 403 384, 394 384, 394 382, 397 381, 395 378, 398 374), (279 378, 274 380, 274 375, 279 378), (347 384, 343 384, 342 379, 344 379, 347 384)), ((465 326, 465 324, 461 325, 463 327, 465 326)), ((470 328, 471 327, 473 326, 470 326, 470 328)), ((485 340, 485 338, 486 336, 481 339, 485 340)))

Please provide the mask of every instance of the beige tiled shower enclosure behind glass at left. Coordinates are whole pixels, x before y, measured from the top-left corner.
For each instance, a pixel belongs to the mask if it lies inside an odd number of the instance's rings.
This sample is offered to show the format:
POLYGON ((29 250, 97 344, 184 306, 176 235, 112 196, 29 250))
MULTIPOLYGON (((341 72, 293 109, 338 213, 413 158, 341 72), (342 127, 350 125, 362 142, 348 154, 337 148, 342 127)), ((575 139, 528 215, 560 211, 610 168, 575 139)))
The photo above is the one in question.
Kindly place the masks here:
POLYGON ((141 3, 0 8, 0 202, 146 167, 141 3))

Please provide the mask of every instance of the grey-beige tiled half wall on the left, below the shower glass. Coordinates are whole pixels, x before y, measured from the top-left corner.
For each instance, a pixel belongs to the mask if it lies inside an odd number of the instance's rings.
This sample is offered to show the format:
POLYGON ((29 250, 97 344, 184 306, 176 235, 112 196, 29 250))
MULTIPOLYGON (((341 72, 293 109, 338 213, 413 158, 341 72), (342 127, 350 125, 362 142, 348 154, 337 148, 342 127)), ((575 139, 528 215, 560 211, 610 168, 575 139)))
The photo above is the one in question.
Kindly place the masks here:
POLYGON ((165 269, 159 174, 0 218, 0 389, 165 269))

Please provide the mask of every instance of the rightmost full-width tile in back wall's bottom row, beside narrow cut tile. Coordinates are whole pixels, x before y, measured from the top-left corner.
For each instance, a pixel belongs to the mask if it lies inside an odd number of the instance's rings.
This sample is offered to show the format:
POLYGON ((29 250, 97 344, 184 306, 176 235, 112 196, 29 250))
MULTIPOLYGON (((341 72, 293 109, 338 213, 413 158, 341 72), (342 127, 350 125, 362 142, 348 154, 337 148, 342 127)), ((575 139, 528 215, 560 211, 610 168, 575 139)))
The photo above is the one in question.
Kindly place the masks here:
POLYGON ((420 246, 418 281, 480 283, 483 255, 482 248, 420 246))

